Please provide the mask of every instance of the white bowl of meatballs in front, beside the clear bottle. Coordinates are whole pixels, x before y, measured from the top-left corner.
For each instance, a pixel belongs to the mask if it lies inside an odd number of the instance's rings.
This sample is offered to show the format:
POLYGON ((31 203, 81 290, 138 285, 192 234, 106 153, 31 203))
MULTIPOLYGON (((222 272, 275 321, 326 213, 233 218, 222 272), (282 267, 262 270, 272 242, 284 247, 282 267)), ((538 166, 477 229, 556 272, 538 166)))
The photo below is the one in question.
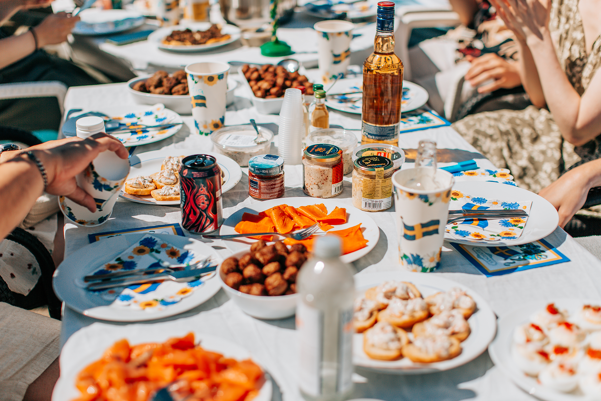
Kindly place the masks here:
POLYGON ((308 257, 304 245, 282 242, 252 244, 218 267, 227 295, 246 314, 257 319, 284 319, 296 311, 296 275, 308 257))

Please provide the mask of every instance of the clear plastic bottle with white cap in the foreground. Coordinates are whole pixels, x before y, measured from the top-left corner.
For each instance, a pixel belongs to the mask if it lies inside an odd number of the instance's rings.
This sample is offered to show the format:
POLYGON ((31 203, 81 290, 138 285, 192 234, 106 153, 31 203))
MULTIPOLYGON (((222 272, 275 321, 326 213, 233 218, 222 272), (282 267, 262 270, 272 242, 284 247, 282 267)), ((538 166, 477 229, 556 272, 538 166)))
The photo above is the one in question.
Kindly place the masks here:
POLYGON ((352 267, 340 260, 341 249, 339 237, 319 237, 297 278, 299 387, 305 400, 345 400, 353 388, 355 280, 352 267))

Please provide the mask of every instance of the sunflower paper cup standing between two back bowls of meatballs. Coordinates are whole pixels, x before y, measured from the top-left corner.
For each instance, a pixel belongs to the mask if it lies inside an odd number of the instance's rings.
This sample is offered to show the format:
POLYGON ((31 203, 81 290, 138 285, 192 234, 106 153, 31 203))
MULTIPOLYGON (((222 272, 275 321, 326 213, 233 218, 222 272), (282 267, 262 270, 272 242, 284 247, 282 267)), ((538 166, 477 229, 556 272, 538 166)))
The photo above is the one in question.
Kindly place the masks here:
POLYGON ((200 135, 210 135, 225 124, 225 96, 230 65, 194 63, 186 66, 194 126, 200 135))

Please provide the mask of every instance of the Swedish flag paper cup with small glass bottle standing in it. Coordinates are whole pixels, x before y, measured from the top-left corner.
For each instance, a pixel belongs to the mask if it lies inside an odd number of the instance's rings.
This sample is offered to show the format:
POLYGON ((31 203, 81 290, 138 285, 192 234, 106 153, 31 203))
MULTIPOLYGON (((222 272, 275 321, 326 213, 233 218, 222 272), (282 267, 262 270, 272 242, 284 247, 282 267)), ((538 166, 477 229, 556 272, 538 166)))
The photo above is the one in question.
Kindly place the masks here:
POLYGON ((412 272, 433 272, 441 265, 441 249, 449 211, 453 174, 436 170, 435 191, 406 188, 415 169, 400 170, 392 176, 394 185, 398 257, 412 272))

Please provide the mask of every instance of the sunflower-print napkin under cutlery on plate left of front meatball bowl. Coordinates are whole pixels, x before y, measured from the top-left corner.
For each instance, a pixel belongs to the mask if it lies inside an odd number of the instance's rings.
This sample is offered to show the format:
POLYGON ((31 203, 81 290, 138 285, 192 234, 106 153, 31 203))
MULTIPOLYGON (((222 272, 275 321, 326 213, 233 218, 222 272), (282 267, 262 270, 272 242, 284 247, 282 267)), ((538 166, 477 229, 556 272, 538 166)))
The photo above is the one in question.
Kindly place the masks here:
MULTIPOLYGON (((182 264, 189 266, 200 259, 203 255, 197 255, 191 251, 177 248, 150 234, 145 235, 137 243, 127 248, 111 262, 106 263, 92 274, 107 274, 116 271, 127 271, 137 269, 160 268, 159 260, 170 265, 182 264)), ((212 275, 207 275, 200 280, 189 283, 175 283, 174 281, 163 281, 162 283, 136 284, 123 288, 121 293, 117 289, 103 290, 103 295, 114 294, 116 299, 113 305, 133 310, 144 310, 146 312, 161 311, 169 305, 177 304, 183 298, 192 295, 212 275), (117 290, 117 291, 115 291, 117 290)))

